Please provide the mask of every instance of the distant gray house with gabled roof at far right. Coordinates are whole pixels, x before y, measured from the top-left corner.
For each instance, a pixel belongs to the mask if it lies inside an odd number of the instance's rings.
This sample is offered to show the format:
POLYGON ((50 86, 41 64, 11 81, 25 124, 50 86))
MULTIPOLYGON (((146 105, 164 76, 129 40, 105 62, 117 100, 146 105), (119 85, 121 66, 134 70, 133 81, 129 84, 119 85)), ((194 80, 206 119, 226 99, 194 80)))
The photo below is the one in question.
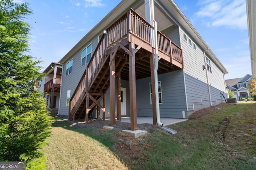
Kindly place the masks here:
POLYGON ((250 95, 250 92, 248 90, 248 83, 251 79, 254 79, 252 75, 246 74, 246 76, 242 78, 233 78, 225 81, 227 88, 234 92, 236 100, 241 101, 243 98, 252 98, 252 95, 250 95))

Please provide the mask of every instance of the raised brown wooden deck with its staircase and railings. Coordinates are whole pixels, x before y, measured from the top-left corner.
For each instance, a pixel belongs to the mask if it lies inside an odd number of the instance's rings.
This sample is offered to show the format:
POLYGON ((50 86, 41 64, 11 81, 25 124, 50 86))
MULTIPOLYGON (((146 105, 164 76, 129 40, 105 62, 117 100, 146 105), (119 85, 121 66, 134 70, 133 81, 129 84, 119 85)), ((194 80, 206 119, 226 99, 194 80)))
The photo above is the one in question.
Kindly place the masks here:
MULTIPOLYGON (((152 47, 151 31, 154 29, 134 10, 129 10, 124 16, 113 23, 106 34, 102 36, 90 62, 69 103, 69 118, 88 116, 97 107, 105 118, 105 94, 108 89, 115 93, 117 78, 117 98, 120 95, 120 79, 130 82, 130 110, 132 119, 136 118, 136 85, 140 78, 152 76, 152 65, 155 49, 152 47), (103 105, 101 101, 103 100, 103 105), (134 115, 132 115, 134 113, 134 115)), ((158 31, 158 74, 183 68, 182 50, 170 39, 158 31)), ((115 125, 115 95, 110 98, 111 125, 115 125)), ((120 102, 118 102, 120 104, 120 102)), ((118 104, 118 119, 120 105, 118 104)), ((136 129, 136 121, 131 121, 131 129, 136 129)))

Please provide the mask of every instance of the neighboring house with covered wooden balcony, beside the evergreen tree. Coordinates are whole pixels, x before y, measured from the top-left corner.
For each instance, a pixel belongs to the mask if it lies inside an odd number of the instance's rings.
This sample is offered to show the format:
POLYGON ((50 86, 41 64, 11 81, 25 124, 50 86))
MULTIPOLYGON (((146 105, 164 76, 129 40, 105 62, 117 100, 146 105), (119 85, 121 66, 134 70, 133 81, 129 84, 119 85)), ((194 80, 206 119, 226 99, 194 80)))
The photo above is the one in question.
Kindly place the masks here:
POLYGON ((60 85, 62 64, 52 62, 45 70, 44 78, 38 82, 38 90, 46 92, 46 104, 50 109, 58 109, 60 102, 60 85))

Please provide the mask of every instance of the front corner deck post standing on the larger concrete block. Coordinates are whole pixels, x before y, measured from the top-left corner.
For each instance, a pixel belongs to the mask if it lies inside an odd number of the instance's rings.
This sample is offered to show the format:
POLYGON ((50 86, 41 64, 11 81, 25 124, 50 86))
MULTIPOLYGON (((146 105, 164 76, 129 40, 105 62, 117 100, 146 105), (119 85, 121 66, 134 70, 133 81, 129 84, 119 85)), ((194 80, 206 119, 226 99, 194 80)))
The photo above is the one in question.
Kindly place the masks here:
MULTIPOLYGON (((135 50, 134 43, 129 44, 129 50, 133 53, 135 50)), ((135 131, 137 130, 135 54, 129 55, 129 86, 131 130, 135 131)))

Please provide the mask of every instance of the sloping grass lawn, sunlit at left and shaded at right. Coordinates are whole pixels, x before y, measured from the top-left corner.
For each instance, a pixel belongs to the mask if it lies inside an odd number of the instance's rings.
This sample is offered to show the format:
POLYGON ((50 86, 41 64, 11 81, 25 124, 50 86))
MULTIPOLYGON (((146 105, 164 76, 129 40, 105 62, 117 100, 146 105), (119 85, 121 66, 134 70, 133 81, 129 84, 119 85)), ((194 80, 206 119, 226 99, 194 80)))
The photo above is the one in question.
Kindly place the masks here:
POLYGON ((118 132, 70 127, 55 118, 53 135, 43 149, 46 169, 256 169, 254 103, 228 105, 168 127, 178 133, 150 129, 139 146, 131 146, 137 150, 117 152, 118 132))

